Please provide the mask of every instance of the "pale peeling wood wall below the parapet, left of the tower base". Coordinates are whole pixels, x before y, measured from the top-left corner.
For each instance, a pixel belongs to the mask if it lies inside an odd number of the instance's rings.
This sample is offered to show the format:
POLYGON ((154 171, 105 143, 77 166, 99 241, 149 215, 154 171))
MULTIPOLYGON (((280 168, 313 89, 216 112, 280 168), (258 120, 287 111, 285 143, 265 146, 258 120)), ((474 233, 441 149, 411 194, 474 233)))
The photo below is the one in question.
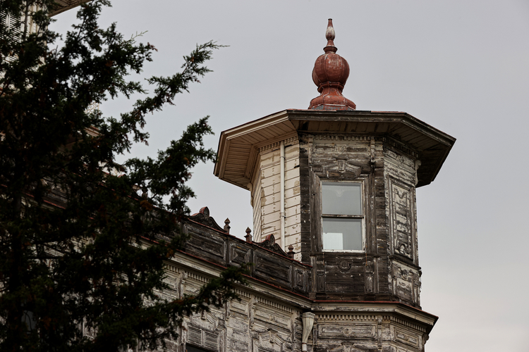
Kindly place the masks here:
MULTIPOLYGON (((202 269, 202 268, 201 268, 202 269)), ((166 298, 195 295, 210 275, 186 268, 181 263, 167 265, 166 282, 171 291, 166 298)), ((186 345, 207 351, 300 351, 303 310, 266 298, 255 291, 237 291, 241 301, 230 301, 222 308, 185 317, 178 328, 178 339, 166 341, 164 351, 184 352, 186 345)))

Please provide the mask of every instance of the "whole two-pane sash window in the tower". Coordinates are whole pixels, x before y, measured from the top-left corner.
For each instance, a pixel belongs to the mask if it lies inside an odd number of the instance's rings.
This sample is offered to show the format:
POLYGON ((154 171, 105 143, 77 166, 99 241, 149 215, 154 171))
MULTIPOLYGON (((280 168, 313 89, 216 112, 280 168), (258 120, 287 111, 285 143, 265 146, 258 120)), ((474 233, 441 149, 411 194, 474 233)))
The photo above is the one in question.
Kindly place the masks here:
POLYGON ((324 251, 363 251, 362 184, 322 182, 324 251))

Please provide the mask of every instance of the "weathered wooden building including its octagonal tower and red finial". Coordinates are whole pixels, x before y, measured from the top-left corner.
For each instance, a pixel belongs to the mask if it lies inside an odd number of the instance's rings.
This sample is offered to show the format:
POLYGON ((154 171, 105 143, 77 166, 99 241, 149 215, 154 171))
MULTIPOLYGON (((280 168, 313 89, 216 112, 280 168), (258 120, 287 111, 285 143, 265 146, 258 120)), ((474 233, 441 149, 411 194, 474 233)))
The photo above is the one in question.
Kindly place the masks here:
POLYGON ((167 294, 240 263, 253 263, 250 286, 186 318, 171 351, 424 351, 437 317, 420 306, 415 189, 455 139, 407 113, 355 110, 334 36, 329 20, 308 109, 222 132, 214 174, 250 191, 253 234, 231 236, 202 208, 167 294))

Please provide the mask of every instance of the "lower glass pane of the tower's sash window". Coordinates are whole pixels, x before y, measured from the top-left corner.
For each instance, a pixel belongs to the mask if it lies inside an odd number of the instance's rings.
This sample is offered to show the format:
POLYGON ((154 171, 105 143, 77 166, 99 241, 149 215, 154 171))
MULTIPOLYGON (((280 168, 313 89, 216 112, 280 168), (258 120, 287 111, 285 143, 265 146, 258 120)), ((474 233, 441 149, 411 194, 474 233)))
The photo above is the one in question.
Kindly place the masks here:
POLYGON ((323 218, 323 249, 362 251, 362 219, 323 218))

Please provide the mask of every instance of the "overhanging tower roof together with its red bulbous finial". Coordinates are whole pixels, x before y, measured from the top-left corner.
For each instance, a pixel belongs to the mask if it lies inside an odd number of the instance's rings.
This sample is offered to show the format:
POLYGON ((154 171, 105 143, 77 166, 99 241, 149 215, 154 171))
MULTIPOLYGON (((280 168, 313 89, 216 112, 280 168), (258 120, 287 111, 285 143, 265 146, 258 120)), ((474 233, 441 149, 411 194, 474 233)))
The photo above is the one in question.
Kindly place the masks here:
POLYGON ((406 145, 409 153, 421 162, 417 187, 430 184, 456 139, 408 113, 357 111, 355 103, 341 94, 349 76, 349 65, 345 58, 336 54, 332 19, 329 19, 325 37, 324 54, 316 59, 312 70, 312 80, 320 96, 310 101, 308 110, 280 111, 222 132, 214 175, 251 189, 262 146, 300 133, 334 133, 390 137, 406 145))

